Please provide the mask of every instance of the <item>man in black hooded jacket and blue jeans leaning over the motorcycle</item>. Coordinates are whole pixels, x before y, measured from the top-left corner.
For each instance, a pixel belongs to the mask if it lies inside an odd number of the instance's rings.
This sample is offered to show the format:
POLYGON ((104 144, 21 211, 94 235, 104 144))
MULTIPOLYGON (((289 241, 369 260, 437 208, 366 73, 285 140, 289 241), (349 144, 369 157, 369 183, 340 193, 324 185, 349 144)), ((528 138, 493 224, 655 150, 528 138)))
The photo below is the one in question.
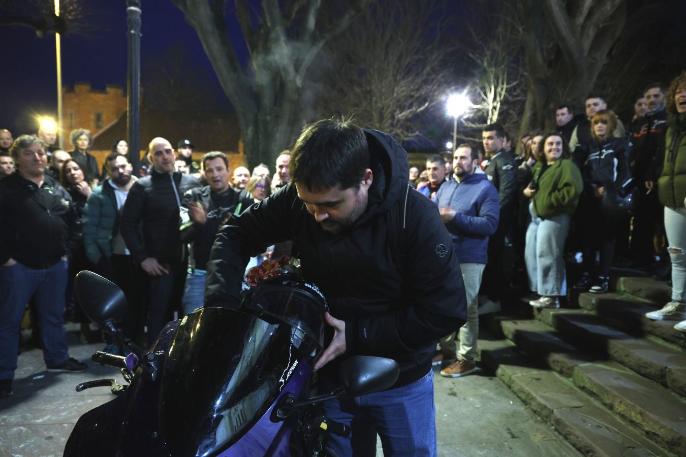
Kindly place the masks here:
POLYGON ((294 240, 303 275, 331 310, 329 345, 314 366, 322 391, 339 384, 348 356, 401 365, 388 391, 325 402, 329 419, 352 425, 351 439, 332 435, 329 445, 340 456, 373 455, 378 432, 384 454, 436 455, 431 358, 438 338, 466 317, 458 258, 438 208, 407 186, 398 143, 348 122, 306 127, 289 170, 289 184, 220 231, 205 305, 237 306, 248 258, 294 240))

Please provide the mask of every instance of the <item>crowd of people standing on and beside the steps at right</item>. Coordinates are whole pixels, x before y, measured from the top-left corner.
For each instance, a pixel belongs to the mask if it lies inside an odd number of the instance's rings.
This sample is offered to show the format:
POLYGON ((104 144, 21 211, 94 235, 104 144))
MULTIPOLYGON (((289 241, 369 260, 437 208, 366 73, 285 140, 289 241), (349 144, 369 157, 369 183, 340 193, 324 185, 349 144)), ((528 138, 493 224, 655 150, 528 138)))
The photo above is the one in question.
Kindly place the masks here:
POLYGON ((523 136, 519 155, 501 125, 486 125, 482 147, 410 168, 410 185, 437 204, 458 248, 468 301, 460 346, 454 334, 438 344, 441 375, 474 371, 478 314, 501 309, 513 265, 536 308, 560 307, 565 261, 581 264, 574 287, 591 293, 609 291, 613 264, 670 280, 672 300, 646 316, 686 331, 686 73, 669 88, 648 84, 628 127, 597 93, 585 114, 559 106, 556 124, 523 136))

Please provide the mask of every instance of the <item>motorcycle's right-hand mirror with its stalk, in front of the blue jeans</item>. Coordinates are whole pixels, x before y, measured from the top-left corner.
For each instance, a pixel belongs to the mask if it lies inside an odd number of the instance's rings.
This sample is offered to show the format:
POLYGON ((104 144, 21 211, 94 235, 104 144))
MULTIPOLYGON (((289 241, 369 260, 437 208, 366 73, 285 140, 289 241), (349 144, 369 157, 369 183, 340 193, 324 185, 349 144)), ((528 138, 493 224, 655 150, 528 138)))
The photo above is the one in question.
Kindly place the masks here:
POLYGON ((276 417, 285 419, 305 406, 312 406, 342 395, 367 395, 385 391, 398 380, 400 365, 395 360, 373 356, 353 356, 341 364, 342 386, 335 391, 295 402, 293 395, 286 393, 276 404, 276 417))

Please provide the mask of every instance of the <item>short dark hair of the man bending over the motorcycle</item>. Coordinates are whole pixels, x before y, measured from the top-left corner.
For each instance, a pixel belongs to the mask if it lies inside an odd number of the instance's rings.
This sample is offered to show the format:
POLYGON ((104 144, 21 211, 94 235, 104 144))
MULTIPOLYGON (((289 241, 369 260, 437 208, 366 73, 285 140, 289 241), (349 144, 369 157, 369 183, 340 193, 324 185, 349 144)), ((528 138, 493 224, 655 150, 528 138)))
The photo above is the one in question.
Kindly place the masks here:
MULTIPOLYGON (((283 154, 283 153, 282 153, 283 154)), ((369 166, 369 145, 350 120, 322 119, 307 125, 291 151, 291 181, 309 191, 359 189, 369 166)))

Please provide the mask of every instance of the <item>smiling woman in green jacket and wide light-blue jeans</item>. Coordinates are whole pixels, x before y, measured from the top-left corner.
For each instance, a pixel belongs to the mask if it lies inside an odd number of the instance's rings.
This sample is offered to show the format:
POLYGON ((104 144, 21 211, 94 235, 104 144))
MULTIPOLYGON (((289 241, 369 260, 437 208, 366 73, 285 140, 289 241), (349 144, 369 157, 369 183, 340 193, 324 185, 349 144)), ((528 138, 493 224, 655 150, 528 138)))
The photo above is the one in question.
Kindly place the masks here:
POLYGON ((567 289, 563 249, 584 182, 578 166, 569 160, 569 145, 558 132, 543 136, 532 173, 532 182, 524 189, 525 197, 531 199, 524 260, 529 287, 541 297, 529 304, 559 308, 559 297, 567 289))

